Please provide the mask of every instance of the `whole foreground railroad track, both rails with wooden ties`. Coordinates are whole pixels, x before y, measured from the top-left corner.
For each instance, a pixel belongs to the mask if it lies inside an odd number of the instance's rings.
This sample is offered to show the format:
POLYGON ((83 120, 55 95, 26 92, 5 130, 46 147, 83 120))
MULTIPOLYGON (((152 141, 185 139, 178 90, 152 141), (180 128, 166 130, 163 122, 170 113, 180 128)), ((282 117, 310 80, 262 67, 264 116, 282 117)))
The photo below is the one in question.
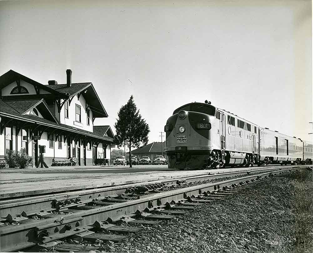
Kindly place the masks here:
MULTIPOLYGON (((56 194, 3 200, 0 202, 1 212, 10 213, 2 219, 3 225, 0 226, 1 251, 17 251, 34 245, 49 248, 55 241, 69 236, 88 240, 123 240, 122 235, 98 232, 136 232, 138 228, 117 226, 115 223, 126 221, 144 225, 153 224, 157 219, 172 219, 173 214, 184 214, 184 210, 190 210, 193 206, 251 187, 265 176, 308 167, 284 166, 179 180, 158 180, 145 183, 144 186, 141 183, 72 192, 65 198, 64 194, 56 194), (242 176, 248 172, 248 176, 205 183, 213 178, 242 176), (23 208, 24 211, 16 215, 23 208)), ((59 247, 68 247, 70 251, 73 251, 73 247, 76 247, 76 251, 87 250, 79 249, 80 246, 63 244, 59 247)))

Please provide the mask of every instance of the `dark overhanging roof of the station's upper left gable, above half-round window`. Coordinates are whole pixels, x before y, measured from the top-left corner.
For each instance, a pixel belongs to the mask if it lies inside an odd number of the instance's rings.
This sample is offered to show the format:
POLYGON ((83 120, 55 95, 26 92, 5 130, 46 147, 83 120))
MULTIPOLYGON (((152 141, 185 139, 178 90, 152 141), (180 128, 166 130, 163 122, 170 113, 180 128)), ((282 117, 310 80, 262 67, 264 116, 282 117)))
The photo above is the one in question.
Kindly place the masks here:
MULTIPOLYGON (((0 76, 0 89, 3 87, 13 83, 16 80, 22 79, 25 82, 28 82, 29 84, 32 84, 34 86, 37 86, 45 91, 48 91, 49 93, 54 94, 55 96, 58 96, 60 98, 68 98, 64 93, 59 92, 57 90, 49 88, 48 85, 43 85, 41 83, 38 83, 37 81, 28 78, 27 76, 24 76, 18 72, 15 72, 14 70, 9 70, 8 72, 4 73, 3 75, 0 76)), ((27 95, 25 95, 27 96, 27 95)))

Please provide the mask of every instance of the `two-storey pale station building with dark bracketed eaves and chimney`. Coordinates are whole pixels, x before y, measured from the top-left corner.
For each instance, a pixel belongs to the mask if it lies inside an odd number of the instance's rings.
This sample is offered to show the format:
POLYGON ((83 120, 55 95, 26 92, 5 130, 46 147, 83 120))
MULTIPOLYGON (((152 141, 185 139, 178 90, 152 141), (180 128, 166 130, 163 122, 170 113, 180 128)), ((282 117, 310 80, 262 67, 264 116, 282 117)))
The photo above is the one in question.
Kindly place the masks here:
POLYGON ((91 82, 43 85, 13 70, 0 76, 0 158, 23 149, 38 167, 39 146, 47 166, 54 159, 75 157, 76 165, 110 159, 114 134, 110 126, 94 126, 108 117, 91 82))

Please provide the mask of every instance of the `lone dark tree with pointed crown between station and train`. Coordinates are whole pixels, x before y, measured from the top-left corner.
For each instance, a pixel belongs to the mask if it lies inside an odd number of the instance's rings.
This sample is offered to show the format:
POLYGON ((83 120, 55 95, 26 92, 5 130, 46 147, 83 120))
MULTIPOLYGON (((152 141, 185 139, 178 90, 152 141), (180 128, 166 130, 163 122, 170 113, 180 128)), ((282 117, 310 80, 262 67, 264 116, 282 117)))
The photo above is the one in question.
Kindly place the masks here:
POLYGON ((147 145, 150 129, 145 119, 141 118, 132 95, 127 104, 121 107, 116 120, 114 125, 115 137, 119 146, 125 143, 129 147, 129 165, 131 168, 131 148, 147 145))

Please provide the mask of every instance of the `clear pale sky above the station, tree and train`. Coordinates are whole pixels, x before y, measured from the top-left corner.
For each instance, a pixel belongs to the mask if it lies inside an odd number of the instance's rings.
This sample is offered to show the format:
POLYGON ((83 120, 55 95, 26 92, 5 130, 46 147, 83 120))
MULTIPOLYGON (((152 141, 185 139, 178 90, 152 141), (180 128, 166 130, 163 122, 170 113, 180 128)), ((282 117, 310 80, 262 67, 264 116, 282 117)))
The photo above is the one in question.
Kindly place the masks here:
MULTIPOLYGON (((211 101, 311 140, 311 1, 0 1, 0 75, 91 81, 110 125, 131 95, 161 141, 167 118, 211 101)), ((164 141, 164 139, 163 139, 164 141)))

